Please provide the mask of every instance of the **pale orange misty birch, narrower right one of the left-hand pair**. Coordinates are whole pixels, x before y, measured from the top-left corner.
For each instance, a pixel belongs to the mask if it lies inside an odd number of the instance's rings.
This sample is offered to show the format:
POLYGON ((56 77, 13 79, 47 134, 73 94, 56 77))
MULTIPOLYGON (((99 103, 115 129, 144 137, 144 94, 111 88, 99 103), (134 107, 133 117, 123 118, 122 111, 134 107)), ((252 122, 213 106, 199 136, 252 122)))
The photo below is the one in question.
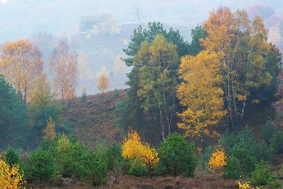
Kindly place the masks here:
POLYGON ((69 52, 67 42, 61 41, 50 58, 50 71, 55 74, 53 84, 62 100, 74 98, 78 79, 78 55, 69 52))

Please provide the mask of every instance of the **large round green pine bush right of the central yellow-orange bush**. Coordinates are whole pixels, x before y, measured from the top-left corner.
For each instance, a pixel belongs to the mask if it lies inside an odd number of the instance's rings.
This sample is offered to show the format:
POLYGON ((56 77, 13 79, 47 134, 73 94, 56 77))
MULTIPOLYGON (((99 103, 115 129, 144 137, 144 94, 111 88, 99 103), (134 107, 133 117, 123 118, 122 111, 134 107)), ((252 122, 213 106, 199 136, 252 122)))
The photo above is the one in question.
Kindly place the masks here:
POLYGON ((172 176, 183 174, 195 176, 197 156, 195 155, 195 143, 188 144, 183 134, 173 133, 161 142, 158 149, 160 166, 163 171, 172 176))

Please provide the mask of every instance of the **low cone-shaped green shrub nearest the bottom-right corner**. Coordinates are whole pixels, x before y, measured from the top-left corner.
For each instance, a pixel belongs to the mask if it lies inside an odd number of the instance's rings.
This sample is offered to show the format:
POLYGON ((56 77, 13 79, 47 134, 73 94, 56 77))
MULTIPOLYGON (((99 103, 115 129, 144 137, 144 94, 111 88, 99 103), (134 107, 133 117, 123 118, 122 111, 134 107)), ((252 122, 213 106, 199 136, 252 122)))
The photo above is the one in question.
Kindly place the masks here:
POLYGON ((255 171, 251 173, 250 184, 252 185, 266 185, 270 188, 279 187, 282 185, 277 181, 277 175, 274 172, 270 171, 270 165, 267 161, 261 161, 260 164, 257 164, 255 171))

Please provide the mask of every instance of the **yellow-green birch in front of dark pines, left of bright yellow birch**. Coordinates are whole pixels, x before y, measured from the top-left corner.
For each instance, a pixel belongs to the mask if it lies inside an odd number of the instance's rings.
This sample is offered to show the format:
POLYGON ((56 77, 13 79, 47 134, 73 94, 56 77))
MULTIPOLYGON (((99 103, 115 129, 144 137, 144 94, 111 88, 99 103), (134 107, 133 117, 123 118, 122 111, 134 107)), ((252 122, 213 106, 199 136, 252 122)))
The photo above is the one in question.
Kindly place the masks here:
POLYGON ((139 67, 139 91, 141 107, 146 111, 158 108, 159 120, 164 140, 164 127, 170 134, 173 113, 175 113, 175 75, 178 67, 177 47, 166 42, 163 35, 158 34, 154 42, 141 43, 141 49, 135 55, 134 66, 139 67))

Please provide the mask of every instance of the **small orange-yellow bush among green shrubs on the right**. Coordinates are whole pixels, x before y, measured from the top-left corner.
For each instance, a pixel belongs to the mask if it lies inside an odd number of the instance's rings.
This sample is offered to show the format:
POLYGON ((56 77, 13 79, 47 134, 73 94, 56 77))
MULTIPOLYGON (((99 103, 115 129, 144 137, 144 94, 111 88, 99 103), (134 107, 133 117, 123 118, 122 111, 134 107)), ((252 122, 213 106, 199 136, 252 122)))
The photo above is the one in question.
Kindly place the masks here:
POLYGON ((222 173, 222 168, 226 165, 226 153, 224 149, 219 146, 216 151, 212 153, 212 157, 209 159, 208 166, 214 173, 222 173))

